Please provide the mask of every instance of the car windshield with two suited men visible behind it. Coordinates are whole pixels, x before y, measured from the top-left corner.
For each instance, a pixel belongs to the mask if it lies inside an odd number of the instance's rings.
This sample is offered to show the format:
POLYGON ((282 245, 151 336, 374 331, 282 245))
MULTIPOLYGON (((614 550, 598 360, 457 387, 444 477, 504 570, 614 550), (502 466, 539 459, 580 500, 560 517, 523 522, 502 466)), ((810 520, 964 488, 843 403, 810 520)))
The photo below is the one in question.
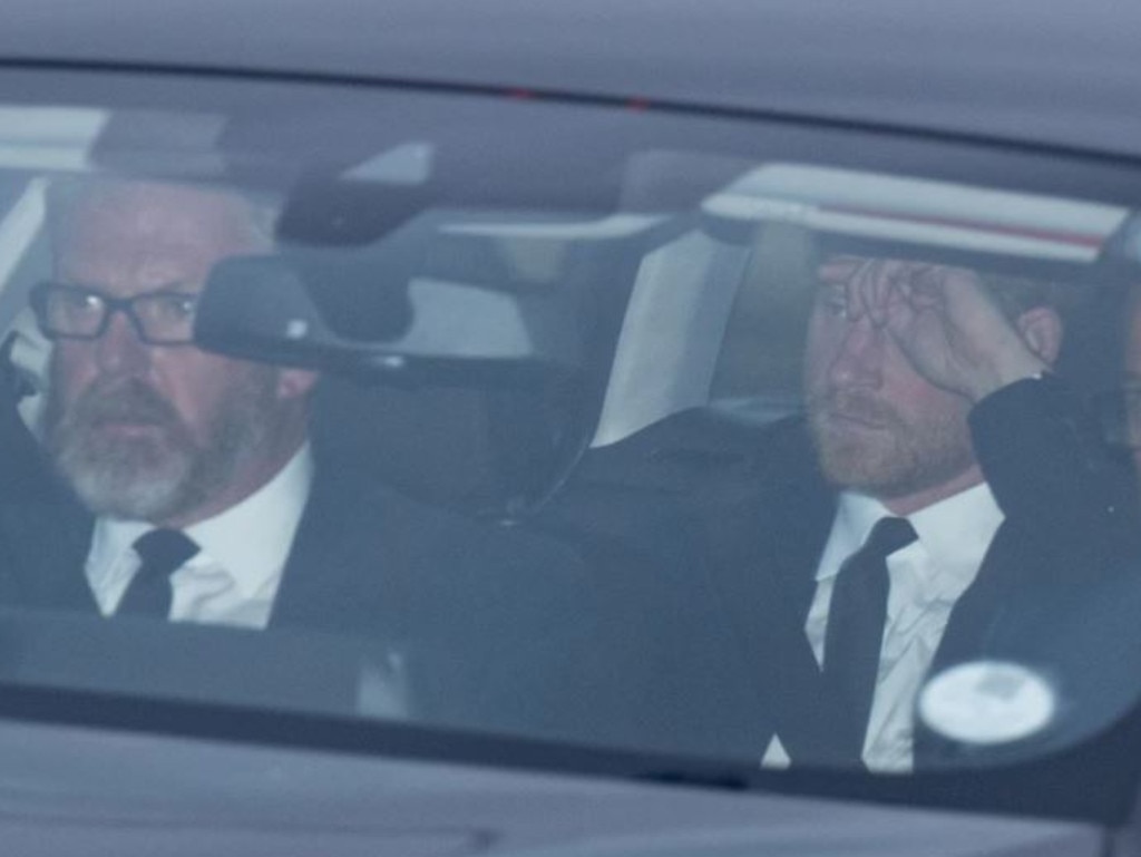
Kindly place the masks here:
POLYGON ((1139 205, 636 102, 6 73, 0 679, 744 769, 1097 738, 1139 205))

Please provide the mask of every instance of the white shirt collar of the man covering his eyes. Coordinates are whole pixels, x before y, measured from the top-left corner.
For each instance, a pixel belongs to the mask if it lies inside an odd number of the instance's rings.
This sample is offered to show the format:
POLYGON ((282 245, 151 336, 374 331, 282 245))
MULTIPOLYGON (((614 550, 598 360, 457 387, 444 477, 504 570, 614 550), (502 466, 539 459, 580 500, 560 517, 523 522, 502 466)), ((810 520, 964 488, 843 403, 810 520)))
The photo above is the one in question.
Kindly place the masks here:
MULTIPOLYGON (((817 569, 816 579, 827 580, 840 573, 843 560, 867 540, 875 523, 893 514, 866 494, 845 491, 840 494, 832 534, 817 569)), ((905 516, 919 536, 919 543, 936 558, 940 568, 973 574, 982 565, 990 542, 1003 522, 1002 510, 990 486, 973 487, 905 516)))

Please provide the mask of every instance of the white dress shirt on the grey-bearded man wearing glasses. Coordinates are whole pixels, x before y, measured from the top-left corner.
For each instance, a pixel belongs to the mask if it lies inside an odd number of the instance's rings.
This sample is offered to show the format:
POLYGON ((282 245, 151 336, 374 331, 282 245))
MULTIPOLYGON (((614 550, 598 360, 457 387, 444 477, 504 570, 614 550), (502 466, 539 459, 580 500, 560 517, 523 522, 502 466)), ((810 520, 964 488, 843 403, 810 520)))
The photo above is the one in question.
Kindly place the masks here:
MULTIPOLYGON (((187 527, 201 550, 171 575, 170 619, 265 628, 311 483, 313 455, 306 445, 241 503, 187 527)), ((96 520, 86 572, 103 615, 115 612, 139 569, 135 540, 153 527, 96 520)))

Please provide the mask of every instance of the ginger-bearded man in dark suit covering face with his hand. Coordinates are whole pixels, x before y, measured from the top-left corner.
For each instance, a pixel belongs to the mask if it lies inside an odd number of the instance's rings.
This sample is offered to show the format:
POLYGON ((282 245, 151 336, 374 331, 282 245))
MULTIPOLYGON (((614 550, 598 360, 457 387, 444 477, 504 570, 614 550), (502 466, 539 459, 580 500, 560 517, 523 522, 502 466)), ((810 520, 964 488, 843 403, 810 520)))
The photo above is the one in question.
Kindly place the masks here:
POLYGON ((911 770, 950 752, 916 728, 924 681, 1095 564, 1114 468, 1051 372, 1073 286, 855 256, 818 277, 806 417, 698 502, 702 550, 764 763, 911 770))

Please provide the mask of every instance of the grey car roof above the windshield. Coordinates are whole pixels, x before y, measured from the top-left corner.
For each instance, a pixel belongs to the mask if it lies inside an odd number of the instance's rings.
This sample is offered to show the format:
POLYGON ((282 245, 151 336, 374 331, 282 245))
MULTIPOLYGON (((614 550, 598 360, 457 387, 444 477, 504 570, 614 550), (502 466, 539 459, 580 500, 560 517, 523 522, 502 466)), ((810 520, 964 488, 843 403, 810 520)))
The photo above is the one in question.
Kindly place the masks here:
POLYGON ((1110 0, 7 0, 0 62, 528 88, 1141 156, 1110 0))

